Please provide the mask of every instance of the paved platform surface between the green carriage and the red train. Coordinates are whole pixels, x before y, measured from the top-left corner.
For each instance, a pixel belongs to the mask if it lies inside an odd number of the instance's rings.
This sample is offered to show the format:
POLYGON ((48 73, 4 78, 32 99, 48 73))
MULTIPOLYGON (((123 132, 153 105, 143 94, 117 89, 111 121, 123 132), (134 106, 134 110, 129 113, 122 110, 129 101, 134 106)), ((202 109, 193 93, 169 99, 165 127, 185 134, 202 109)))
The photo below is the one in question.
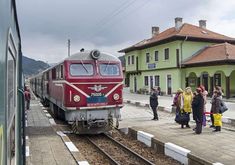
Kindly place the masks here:
POLYGON ((71 152, 55 132, 37 100, 31 101, 26 123, 27 165, 76 165, 71 152))

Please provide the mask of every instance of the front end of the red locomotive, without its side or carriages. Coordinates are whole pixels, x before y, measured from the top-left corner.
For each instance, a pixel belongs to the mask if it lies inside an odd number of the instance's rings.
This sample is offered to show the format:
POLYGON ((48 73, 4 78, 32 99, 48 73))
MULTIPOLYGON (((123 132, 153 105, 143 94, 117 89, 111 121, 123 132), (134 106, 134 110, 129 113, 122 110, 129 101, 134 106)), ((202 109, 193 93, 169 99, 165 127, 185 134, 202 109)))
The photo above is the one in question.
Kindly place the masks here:
POLYGON ((123 75, 120 60, 99 51, 65 60, 65 119, 75 133, 106 132, 120 118, 123 75))

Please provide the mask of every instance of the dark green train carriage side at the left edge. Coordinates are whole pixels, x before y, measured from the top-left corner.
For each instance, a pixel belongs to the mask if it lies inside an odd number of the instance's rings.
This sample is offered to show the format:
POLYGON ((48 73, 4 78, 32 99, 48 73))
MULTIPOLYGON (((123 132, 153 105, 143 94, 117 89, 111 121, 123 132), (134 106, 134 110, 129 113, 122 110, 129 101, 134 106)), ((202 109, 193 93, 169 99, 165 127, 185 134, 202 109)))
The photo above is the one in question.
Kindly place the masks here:
POLYGON ((0 0, 0 165, 24 164, 21 39, 15 0, 0 0))

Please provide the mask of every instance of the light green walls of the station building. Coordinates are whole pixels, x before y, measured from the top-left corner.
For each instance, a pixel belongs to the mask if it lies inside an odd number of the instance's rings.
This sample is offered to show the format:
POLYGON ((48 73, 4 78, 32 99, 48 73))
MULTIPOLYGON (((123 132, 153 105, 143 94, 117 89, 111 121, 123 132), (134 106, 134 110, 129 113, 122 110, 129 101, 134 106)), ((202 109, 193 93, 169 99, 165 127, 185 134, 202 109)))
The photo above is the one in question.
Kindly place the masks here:
MULTIPOLYGON (((172 93, 176 92, 178 88, 185 88, 186 77, 195 77, 197 86, 197 78, 202 75, 202 73, 208 73, 210 77, 213 77, 216 72, 221 73, 222 78, 222 88, 224 93, 226 93, 225 86, 225 76, 230 76, 235 66, 233 65, 220 65, 218 66, 205 66, 205 67, 192 67, 192 68, 177 68, 177 57, 176 49, 179 49, 179 64, 181 61, 185 61, 191 58, 202 48, 212 45, 214 43, 208 42, 192 42, 192 41, 173 41, 166 44, 156 45, 151 48, 145 48, 142 50, 135 50, 125 54, 126 59, 126 72, 136 71, 136 57, 138 56, 139 61, 139 71, 138 74, 130 74, 130 90, 134 91, 134 77, 137 79, 137 91, 140 89, 150 89, 150 87, 144 85, 145 76, 160 76, 160 87, 162 92, 167 92, 167 75, 171 75, 172 78, 172 93), (169 48, 169 59, 164 59, 164 49, 169 48), (182 49, 181 49, 182 48, 182 49), (155 51, 158 51, 158 61, 155 61, 155 51), (150 54, 150 61, 146 63, 146 53, 150 54), (128 56, 134 55, 134 64, 128 65, 128 56), (148 69, 148 64, 155 64, 155 68, 148 69)), ((235 72, 233 72, 230 78, 231 94, 235 95, 235 72)), ((202 80, 201 80, 202 83, 202 80)), ((210 79, 208 79, 208 89, 210 89, 210 79)))

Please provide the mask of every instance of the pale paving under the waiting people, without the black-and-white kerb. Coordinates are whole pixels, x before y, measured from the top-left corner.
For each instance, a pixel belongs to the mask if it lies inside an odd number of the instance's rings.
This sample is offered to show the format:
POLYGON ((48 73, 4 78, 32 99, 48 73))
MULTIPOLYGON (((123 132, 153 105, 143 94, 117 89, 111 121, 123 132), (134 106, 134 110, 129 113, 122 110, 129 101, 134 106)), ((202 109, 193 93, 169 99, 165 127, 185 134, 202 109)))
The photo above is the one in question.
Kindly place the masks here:
POLYGON ((212 132, 207 125, 203 128, 202 134, 197 135, 192 130, 195 127, 194 122, 190 122, 192 128, 181 129, 174 121, 174 114, 162 111, 158 113, 159 120, 152 121, 152 114, 148 108, 127 104, 121 111, 122 121, 119 127, 132 127, 135 130, 150 133, 161 142, 171 142, 181 146, 190 150, 192 154, 213 163, 234 164, 234 131, 228 131, 222 127, 221 132, 212 132))

